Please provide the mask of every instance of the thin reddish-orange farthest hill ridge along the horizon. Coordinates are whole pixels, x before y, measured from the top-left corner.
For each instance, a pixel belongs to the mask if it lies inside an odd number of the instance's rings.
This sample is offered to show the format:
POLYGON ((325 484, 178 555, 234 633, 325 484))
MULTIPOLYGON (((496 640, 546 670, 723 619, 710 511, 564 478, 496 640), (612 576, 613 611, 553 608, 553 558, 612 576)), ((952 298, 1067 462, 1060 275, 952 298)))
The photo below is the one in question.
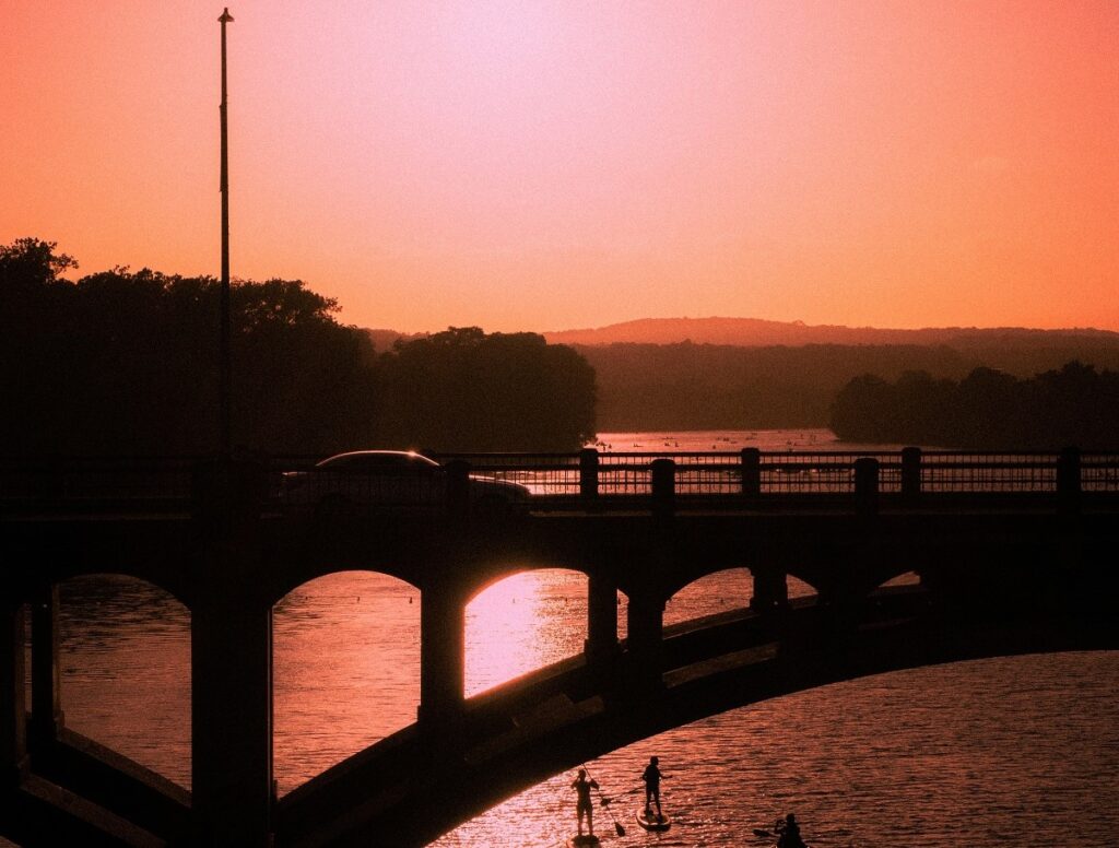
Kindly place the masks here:
POLYGON ((1045 342, 1091 338, 1119 343, 1119 332, 1092 328, 1036 330, 1025 327, 939 327, 891 330, 875 327, 806 324, 800 321, 767 321, 761 318, 642 318, 582 330, 542 333, 555 345, 731 345, 767 347, 784 345, 963 345, 1045 342))

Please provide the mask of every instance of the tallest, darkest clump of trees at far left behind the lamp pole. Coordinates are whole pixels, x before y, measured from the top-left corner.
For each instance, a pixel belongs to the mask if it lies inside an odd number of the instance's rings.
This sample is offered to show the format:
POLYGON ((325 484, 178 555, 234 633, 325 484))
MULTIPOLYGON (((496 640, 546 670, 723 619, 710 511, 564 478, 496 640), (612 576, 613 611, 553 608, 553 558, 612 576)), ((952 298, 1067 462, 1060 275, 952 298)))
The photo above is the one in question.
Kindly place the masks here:
MULTIPOLYGON (((82 277, 55 245, 0 247, 0 387, 11 454, 200 454, 217 444, 219 284, 126 267, 82 277)), ((372 346, 299 281, 231 292, 234 442, 318 452, 364 441, 372 346)))

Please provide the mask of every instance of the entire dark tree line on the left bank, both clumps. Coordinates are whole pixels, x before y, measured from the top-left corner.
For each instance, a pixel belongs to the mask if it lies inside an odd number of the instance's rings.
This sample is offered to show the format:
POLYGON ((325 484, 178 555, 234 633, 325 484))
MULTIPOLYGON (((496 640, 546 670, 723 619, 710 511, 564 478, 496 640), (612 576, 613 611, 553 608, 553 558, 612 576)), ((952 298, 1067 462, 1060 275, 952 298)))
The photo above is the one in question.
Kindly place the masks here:
MULTIPOLYGON (((0 452, 211 453, 218 281, 117 266, 70 282, 77 263, 56 247, 0 245, 0 452)), ((451 328, 378 352, 337 310, 298 280, 232 286, 235 444, 551 451, 594 436, 594 371, 570 348, 451 328)))

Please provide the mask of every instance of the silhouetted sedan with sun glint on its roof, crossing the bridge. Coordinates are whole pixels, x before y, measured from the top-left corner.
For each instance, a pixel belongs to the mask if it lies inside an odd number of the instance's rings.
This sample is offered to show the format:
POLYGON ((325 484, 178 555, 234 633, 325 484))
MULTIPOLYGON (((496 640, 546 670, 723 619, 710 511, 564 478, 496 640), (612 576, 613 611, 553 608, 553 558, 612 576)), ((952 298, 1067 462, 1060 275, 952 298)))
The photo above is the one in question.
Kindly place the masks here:
MULTIPOLYGON (((448 469, 415 451, 350 451, 328 456, 307 471, 285 471, 280 502, 320 513, 440 510, 446 506, 448 469)), ((467 501, 474 512, 508 513, 527 509, 527 487, 481 474, 467 479, 467 501)))

